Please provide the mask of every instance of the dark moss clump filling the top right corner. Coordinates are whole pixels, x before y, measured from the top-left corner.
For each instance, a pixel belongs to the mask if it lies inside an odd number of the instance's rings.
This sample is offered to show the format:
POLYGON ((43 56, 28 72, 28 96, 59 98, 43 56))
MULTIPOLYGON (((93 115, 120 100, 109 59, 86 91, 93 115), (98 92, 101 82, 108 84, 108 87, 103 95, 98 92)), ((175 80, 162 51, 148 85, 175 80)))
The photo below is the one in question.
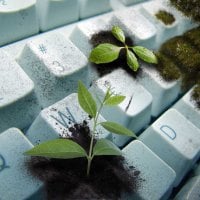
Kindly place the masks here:
POLYGON ((170 0, 171 4, 180 10, 185 16, 200 22, 199 0, 170 0))

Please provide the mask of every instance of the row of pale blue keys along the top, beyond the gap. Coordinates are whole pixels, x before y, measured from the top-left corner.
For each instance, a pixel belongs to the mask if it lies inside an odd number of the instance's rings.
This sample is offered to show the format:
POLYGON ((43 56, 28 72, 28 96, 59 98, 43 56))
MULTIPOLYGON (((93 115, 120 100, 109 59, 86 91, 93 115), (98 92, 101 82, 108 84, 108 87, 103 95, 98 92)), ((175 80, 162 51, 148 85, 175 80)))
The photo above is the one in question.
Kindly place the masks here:
POLYGON ((109 0, 1 0, 0 46, 112 9, 109 0))

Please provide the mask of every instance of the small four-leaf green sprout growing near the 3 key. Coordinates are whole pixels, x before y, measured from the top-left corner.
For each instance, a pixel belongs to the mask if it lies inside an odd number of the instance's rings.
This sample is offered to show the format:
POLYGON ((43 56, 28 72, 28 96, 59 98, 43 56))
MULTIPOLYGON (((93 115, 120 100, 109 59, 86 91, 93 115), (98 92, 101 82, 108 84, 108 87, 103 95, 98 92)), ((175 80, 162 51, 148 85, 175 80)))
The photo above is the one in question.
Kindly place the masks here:
POLYGON ((126 49, 127 65, 133 70, 137 71, 139 63, 135 54, 145 62, 157 64, 157 58, 152 51, 142 46, 129 47, 126 44, 126 38, 123 30, 118 26, 112 27, 113 36, 119 40, 123 46, 119 47, 110 43, 103 43, 95 47, 91 53, 89 60, 95 64, 110 63, 119 57, 121 49, 126 49))

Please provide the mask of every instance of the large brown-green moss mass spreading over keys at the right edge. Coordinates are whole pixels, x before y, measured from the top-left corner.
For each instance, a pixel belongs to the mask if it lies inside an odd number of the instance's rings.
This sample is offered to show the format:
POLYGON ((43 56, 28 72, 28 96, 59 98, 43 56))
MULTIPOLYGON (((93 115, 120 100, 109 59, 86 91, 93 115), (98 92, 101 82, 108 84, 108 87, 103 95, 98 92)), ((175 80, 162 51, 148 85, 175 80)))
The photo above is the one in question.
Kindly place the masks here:
POLYGON ((157 69, 167 80, 181 77, 182 89, 197 85, 192 100, 200 109, 200 28, 194 28, 182 36, 166 41, 157 53, 157 69))

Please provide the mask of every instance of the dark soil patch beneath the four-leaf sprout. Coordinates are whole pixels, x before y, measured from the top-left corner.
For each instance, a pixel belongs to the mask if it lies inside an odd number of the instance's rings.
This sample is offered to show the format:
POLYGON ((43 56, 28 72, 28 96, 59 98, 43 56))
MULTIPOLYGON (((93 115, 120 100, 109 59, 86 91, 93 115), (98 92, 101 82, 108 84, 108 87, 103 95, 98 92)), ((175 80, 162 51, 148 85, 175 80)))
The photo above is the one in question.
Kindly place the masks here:
MULTIPOLYGON (((111 31, 101 31, 99 33, 94 34, 91 37, 90 43, 92 44, 93 47, 96 47, 102 43, 110 43, 121 47, 124 46, 123 43, 121 43, 112 35, 111 31)), ((128 46, 133 46, 133 41, 130 37, 126 37, 126 44, 128 46)), ((139 74, 141 74, 142 70, 140 68, 137 72, 134 72, 133 70, 130 69, 130 67, 127 65, 125 51, 126 51, 125 49, 122 49, 120 51, 119 58, 111 63, 98 64, 98 65, 92 63, 92 66, 97 69, 100 77, 112 72, 115 69, 123 68, 134 78, 136 78, 138 77, 139 74)))

